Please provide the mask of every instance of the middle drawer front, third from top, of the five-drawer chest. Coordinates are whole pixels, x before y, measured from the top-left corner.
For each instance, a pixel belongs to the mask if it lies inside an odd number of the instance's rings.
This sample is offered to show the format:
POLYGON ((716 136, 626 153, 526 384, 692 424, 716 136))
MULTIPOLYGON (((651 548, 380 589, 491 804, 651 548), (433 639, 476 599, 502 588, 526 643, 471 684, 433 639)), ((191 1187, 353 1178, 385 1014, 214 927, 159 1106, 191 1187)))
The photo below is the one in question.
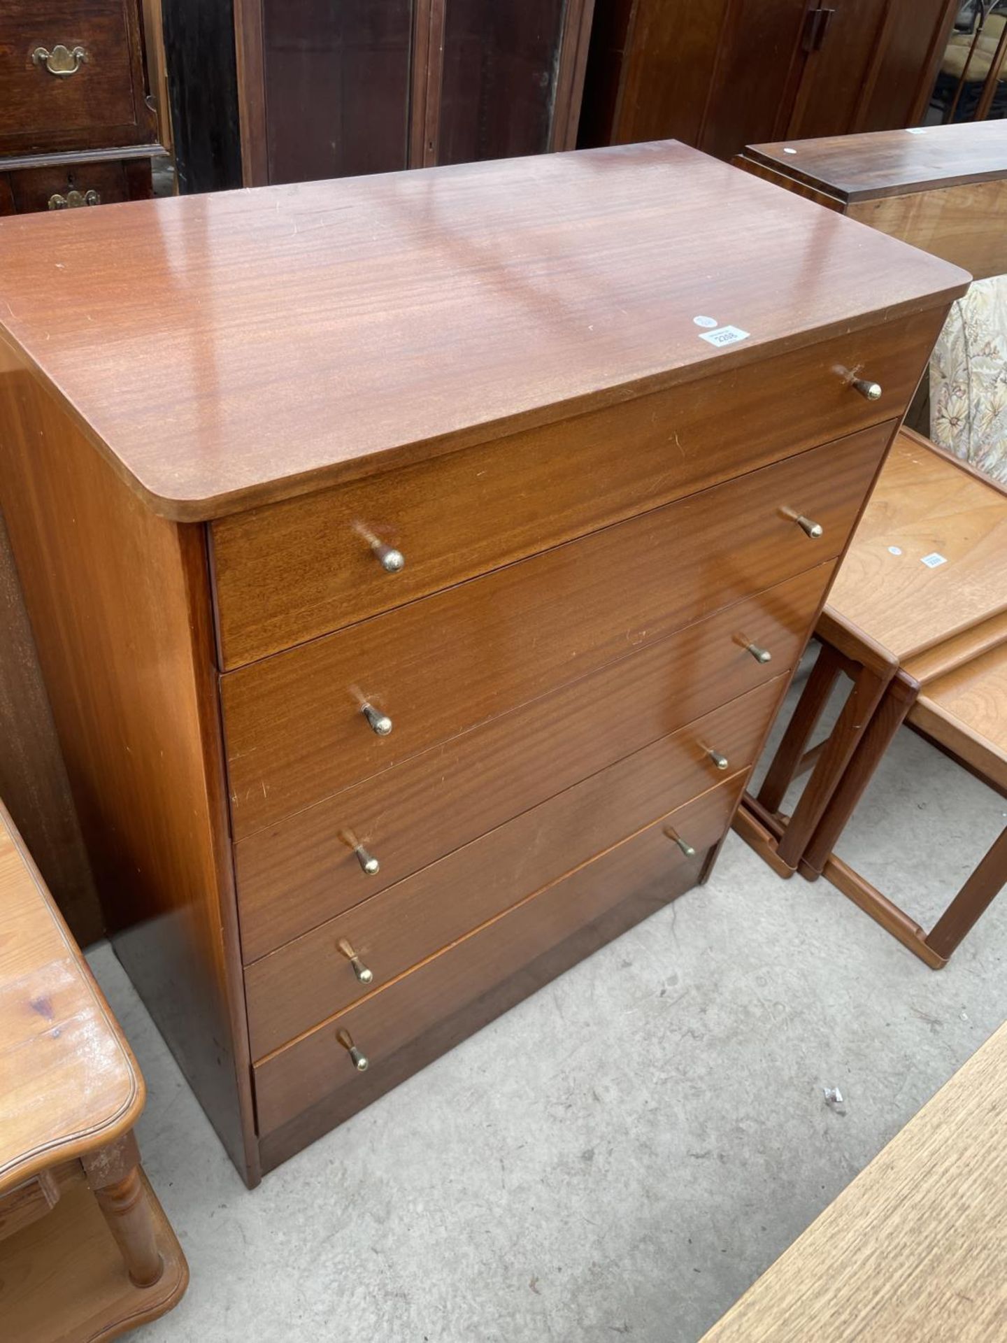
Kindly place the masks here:
POLYGON ((239 841, 244 960, 788 672, 832 569, 788 579, 239 841), (768 665, 749 641, 772 653, 768 665), (367 876, 341 835, 380 872, 367 876))

